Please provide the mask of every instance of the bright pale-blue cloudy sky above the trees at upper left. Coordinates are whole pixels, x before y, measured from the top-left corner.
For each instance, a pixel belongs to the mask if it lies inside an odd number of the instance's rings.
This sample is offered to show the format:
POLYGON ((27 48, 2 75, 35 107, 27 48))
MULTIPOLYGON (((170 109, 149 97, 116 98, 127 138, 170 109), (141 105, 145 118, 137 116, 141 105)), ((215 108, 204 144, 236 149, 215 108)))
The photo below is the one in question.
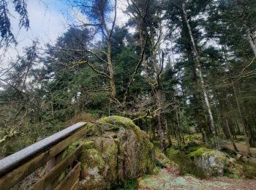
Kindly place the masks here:
MULTIPOLYGON (((126 1, 118 1, 117 4, 117 26, 123 26, 129 19, 124 14, 126 9, 126 1)), ((47 43, 54 45, 56 39, 61 36, 69 24, 79 20, 86 20, 78 10, 71 9, 66 0, 29 0, 28 12, 30 28, 18 28, 18 15, 12 7, 9 7, 11 17, 12 32, 18 41, 18 45, 10 47, 7 52, 0 50, 1 67, 8 67, 10 60, 15 60, 18 54, 22 54, 23 48, 30 46, 32 41, 37 39, 39 46, 44 48, 47 43)))

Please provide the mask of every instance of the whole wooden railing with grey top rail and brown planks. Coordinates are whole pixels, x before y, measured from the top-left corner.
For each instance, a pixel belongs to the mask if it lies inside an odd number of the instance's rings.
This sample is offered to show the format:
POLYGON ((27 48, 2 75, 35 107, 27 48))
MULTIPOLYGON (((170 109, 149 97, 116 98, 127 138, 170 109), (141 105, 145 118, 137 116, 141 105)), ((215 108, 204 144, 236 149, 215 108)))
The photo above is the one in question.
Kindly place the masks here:
POLYGON ((30 189, 78 189, 80 162, 75 160, 82 151, 82 145, 75 146, 75 149, 66 156, 64 156, 64 150, 85 132, 86 123, 76 123, 1 159, 0 190, 12 188, 45 164, 45 175, 42 175, 30 189), (68 172, 67 169, 69 169, 68 172), (60 179, 63 173, 64 179, 60 179))

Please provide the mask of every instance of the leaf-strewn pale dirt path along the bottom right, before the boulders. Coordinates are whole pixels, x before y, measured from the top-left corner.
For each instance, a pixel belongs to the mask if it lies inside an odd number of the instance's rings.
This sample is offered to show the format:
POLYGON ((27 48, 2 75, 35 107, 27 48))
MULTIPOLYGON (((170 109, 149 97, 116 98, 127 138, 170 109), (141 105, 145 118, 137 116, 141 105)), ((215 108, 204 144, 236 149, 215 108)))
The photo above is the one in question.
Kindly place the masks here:
POLYGON ((181 176, 176 168, 161 169, 157 175, 148 175, 139 181, 140 190, 167 189, 256 189, 256 180, 233 179, 227 177, 197 179, 190 175, 181 176))

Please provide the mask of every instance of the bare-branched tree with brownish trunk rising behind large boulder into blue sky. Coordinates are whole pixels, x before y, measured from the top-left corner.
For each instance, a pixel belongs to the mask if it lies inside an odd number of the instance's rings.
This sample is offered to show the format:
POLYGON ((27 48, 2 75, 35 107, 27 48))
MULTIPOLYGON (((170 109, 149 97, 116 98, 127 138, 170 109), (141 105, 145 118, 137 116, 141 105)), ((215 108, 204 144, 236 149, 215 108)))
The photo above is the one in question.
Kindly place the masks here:
POLYGON ((114 27, 116 25, 116 0, 113 1, 113 4, 109 0, 94 0, 94 1, 75 1, 73 6, 79 7, 80 11, 89 18, 89 23, 86 21, 83 22, 83 27, 94 27, 95 31, 99 31, 99 34, 102 35, 103 42, 105 42, 105 47, 99 51, 88 50, 89 55, 95 56, 99 59, 102 64, 108 65, 108 72, 101 72, 96 69, 92 64, 87 61, 83 61, 88 64, 94 72, 97 72, 99 75, 105 76, 110 83, 111 94, 110 97, 115 102, 119 102, 116 99, 116 84, 113 71, 113 60, 112 60, 112 34, 114 27), (114 17, 108 22, 109 13, 114 12, 114 17), (109 26, 110 24, 110 26, 109 26))

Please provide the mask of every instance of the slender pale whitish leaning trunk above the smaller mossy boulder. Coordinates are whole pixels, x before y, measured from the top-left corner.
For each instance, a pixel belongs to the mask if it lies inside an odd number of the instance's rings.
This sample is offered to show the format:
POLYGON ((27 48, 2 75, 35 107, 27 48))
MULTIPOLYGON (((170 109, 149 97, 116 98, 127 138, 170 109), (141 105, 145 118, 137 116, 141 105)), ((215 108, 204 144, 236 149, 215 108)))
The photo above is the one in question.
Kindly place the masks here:
POLYGON ((193 50, 194 50, 194 53, 195 53, 195 61, 197 63, 197 69, 198 69, 198 75, 199 75, 199 78, 200 78, 200 84, 201 84, 201 88, 202 88, 202 91, 203 91, 203 96, 204 96, 204 99, 205 99, 205 102, 206 102, 206 108, 207 108, 208 116, 210 118, 211 132, 213 134, 213 137, 215 137, 216 132, 215 132, 215 126, 214 126, 214 117, 212 115, 211 106, 210 106, 210 103, 208 101, 208 95, 206 93, 206 85, 205 85, 205 82, 204 82, 204 79, 203 79, 202 67, 201 67, 201 64, 200 64, 200 57, 199 57, 199 54, 197 52, 197 47, 195 45, 195 39, 194 39, 193 34, 192 34, 192 29, 189 25, 189 20, 187 19, 187 12, 185 10, 185 4, 182 4, 182 10, 183 10, 183 13, 184 13, 185 21, 187 23, 187 28, 189 29, 189 36, 190 36, 192 46, 193 46, 193 50))

